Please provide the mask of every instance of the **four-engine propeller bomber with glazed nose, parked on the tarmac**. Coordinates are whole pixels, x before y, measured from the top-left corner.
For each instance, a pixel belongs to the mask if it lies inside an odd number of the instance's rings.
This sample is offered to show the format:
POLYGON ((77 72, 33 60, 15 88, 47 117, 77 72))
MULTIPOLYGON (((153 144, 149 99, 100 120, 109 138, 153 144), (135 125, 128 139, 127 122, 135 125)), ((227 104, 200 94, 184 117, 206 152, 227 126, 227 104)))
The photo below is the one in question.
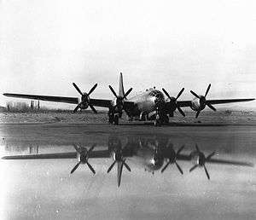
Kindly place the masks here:
POLYGON ((184 88, 180 90, 176 97, 170 96, 169 93, 163 88, 162 90, 166 94, 167 98, 165 98, 164 94, 160 90, 149 89, 137 96, 132 97, 131 99, 127 99, 127 96, 130 94, 132 88, 125 92, 122 73, 120 73, 119 76, 119 95, 117 95, 112 86, 109 85, 109 89, 112 91, 114 96, 113 100, 91 99, 90 94, 96 89, 97 84, 95 84, 88 93, 81 92, 79 87, 74 83, 73 86, 81 95, 79 98, 63 96, 37 96, 13 93, 4 93, 3 95, 33 100, 57 101, 76 104, 77 107, 74 108, 74 113, 76 113, 79 109, 86 109, 88 107, 90 107, 94 113, 97 113, 95 107, 108 107, 108 121, 111 124, 119 124, 119 118, 122 117, 122 113, 125 111, 130 120, 154 120, 154 125, 168 123, 169 117, 173 117, 173 113, 176 109, 179 113, 185 116, 185 113, 183 113, 181 107, 190 107, 196 112, 195 118, 197 118, 206 106, 211 108, 213 111, 216 111, 216 108, 212 105, 254 100, 207 100, 207 94, 211 88, 211 84, 208 85, 204 96, 199 96, 194 91, 190 90, 191 94, 195 96, 195 98, 191 101, 177 101, 177 99, 182 95, 184 88))

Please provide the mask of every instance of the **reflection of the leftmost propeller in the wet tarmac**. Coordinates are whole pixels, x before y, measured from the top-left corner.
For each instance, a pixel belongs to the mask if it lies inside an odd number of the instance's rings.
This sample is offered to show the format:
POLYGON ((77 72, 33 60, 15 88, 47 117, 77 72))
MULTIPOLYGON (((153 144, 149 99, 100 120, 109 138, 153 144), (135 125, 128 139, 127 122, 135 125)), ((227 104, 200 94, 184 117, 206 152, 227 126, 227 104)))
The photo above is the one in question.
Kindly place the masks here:
POLYGON ((86 148, 79 148, 76 144, 73 144, 73 147, 76 149, 77 153, 79 153, 79 163, 73 167, 72 171, 70 172, 71 174, 73 174, 73 172, 78 169, 80 164, 86 164, 89 167, 90 171, 92 171, 93 174, 96 174, 96 171, 88 162, 89 153, 93 150, 93 148, 95 148, 95 146, 96 144, 92 145, 87 151, 86 148))

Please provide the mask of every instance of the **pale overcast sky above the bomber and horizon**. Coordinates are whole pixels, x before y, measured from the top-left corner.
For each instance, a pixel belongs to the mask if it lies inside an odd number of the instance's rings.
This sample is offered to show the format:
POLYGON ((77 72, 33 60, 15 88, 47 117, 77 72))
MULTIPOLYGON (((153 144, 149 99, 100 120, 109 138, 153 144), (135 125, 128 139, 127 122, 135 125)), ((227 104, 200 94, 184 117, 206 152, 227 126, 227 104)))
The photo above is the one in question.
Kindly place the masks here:
POLYGON ((155 85, 184 87, 188 100, 212 83, 208 98, 255 97, 255 11, 255 1, 3 0, 0 92, 77 96, 73 82, 98 83, 91 97, 111 98, 123 72, 130 96, 155 85))

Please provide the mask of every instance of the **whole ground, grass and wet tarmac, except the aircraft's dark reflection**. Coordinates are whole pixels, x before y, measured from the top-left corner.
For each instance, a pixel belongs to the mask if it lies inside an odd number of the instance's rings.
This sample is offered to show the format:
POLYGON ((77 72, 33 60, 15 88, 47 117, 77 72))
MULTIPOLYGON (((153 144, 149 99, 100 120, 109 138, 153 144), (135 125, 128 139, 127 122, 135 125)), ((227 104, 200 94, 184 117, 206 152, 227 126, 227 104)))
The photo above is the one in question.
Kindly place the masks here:
MULTIPOLYGON (((106 115, 2 114, 0 153, 4 155, 74 151, 73 142, 96 149, 108 148, 111 136, 123 143, 129 138, 168 139, 176 150, 195 150, 195 143, 216 159, 256 164, 254 113, 194 114, 162 127, 123 122, 105 123, 106 115), (5 117, 5 118, 4 118, 5 117), (55 119, 58 117, 58 119, 55 119), (62 118, 61 118, 62 117, 62 118), (96 117, 96 118, 94 118, 96 117), (82 120, 87 123, 81 122, 82 120), (178 123, 177 121, 180 120, 178 123), (186 120, 186 121, 185 121, 186 120), (21 124, 19 124, 21 122, 21 124), (95 122, 95 123, 94 123, 95 122)), ((255 166, 208 164, 211 181, 203 169, 189 173, 191 163, 179 161, 162 174, 144 171, 137 159, 127 159, 117 188, 116 170, 107 174, 112 159, 90 159, 96 175, 81 166, 70 171, 76 159, 1 160, 0 216, 3 219, 255 219, 255 166)))

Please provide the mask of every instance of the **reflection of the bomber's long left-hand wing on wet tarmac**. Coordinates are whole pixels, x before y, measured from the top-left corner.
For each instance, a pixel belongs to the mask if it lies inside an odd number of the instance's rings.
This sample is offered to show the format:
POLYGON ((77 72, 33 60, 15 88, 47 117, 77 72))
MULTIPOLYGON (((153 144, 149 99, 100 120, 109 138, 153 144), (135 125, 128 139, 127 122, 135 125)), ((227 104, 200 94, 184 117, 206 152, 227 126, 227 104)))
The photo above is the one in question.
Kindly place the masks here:
MULTIPOLYGON (((109 158, 110 153, 108 150, 92 151, 89 154, 89 158, 109 158)), ((14 155, 5 156, 2 159, 75 159, 77 158, 76 152, 67 153, 42 153, 42 154, 26 154, 26 155, 14 155)))

